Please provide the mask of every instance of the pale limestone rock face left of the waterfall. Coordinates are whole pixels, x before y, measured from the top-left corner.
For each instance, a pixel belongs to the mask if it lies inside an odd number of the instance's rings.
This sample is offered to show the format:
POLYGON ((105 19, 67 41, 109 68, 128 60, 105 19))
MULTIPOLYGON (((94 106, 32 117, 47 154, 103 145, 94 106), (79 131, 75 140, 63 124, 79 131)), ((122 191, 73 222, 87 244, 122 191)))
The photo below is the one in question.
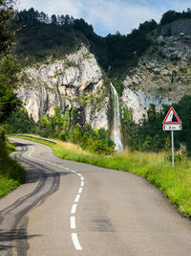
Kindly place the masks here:
POLYGON ((54 107, 59 106, 61 113, 76 108, 82 112, 81 122, 108 129, 109 98, 104 96, 103 76, 85 46, 64 59, 25 69, 21 81, 18 97, 35 122, 41 114, 53 115, 54 107))

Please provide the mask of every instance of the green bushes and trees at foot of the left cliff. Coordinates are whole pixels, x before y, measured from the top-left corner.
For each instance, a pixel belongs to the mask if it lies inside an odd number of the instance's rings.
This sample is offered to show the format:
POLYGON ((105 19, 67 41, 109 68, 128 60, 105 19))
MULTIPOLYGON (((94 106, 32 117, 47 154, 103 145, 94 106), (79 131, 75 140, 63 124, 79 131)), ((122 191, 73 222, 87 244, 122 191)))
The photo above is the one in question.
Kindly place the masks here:
POLYGON ((17 109, 4 122, 4 127, 9 133, 38 133, 43 137, 70 141, 96 153, 110 154, 114 151, 114 143, 107 131, 104 128, 94 130, 90 124, 81 126, 76 109, 66 109, 61 115, 60 108, 55 107, 54 112, 54 116, 42 115, 39 124, 34 124, 25 109, 17 109))

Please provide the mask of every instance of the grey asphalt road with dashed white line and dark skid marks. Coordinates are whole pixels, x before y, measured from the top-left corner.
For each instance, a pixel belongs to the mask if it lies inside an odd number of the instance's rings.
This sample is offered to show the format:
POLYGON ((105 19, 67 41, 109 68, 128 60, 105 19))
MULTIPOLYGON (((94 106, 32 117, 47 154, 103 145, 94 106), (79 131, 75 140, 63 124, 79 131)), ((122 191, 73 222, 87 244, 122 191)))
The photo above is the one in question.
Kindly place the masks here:
POLYGON ((0 255, 191 255, 191 222, 146 180, 11 140, 28 177, 0 199, 0 255))

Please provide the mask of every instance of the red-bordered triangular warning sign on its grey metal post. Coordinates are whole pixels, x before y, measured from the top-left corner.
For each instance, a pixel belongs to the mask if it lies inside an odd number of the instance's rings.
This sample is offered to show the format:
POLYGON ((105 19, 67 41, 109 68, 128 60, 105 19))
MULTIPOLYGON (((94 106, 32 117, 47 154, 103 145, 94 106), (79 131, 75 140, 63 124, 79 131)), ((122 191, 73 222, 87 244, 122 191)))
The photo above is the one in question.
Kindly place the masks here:
POLYGON ((172 144, 172 166, 175 166, 174 154, 174 130, 181 129, 181 121, 175 109, 171 107, 163 121, 163 130, 171 130, 171 144, 172 144))

